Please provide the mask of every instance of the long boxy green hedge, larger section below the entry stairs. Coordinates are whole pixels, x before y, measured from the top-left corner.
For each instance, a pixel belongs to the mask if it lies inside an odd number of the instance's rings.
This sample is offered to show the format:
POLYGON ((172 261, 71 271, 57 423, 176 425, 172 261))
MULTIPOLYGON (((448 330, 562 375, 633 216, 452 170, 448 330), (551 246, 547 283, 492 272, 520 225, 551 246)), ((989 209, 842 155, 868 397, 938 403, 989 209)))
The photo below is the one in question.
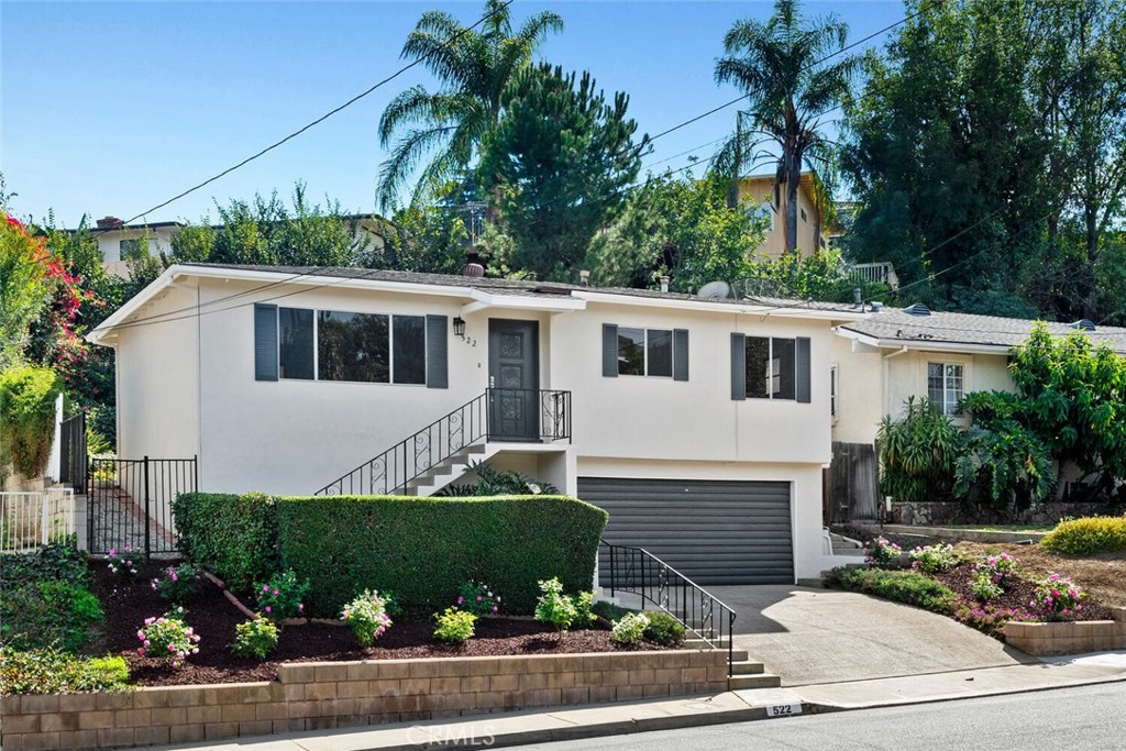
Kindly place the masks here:
POLYGON ((279 498, 277 509, 282 565, 312 583, 307 607, 327 617, 366 588, 429 615, 470 579, 491 584, 504 610, 530 614, 540 579, 590 589, 607 519, 558 495, 279 498))

